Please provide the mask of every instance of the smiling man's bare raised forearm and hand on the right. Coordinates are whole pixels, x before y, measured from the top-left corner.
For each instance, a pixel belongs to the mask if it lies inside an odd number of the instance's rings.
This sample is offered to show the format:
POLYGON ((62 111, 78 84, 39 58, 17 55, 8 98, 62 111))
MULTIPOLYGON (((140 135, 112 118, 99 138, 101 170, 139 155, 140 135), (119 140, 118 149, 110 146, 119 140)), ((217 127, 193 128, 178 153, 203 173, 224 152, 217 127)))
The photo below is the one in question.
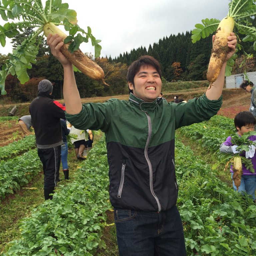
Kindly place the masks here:
MULTIPOLYGON (((215 39, 215 36, 213 36, 213 41, 214 39, 215 39)), ((225 69, 226 69, 227 61, 232 57, 232 55, 236 51, 237 39, 236 39, 235 33, 233 32, 230 33, 230 36, 228 36, 227 39, 228 39, 229 52, 227 54, 226 61, 222 65, 218 78, 216 79, 215 82, 212 83, 211 88, 209 86, 210 89, 208 88, 209 90, 207 90, 205 93, 206 97, 209 100, 218 100, 219 97, 221 96, 223 85, 224 85, 225 69)))

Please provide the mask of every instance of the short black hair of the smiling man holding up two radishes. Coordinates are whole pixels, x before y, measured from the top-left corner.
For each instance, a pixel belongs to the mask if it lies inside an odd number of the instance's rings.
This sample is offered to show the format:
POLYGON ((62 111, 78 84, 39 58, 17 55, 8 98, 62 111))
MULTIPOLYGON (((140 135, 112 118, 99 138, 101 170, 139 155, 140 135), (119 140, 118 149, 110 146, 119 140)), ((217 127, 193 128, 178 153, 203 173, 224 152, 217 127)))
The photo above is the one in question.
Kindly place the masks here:
MULTIPOLYGON (((132 85, 134 86, 134 77, 139 72, 140 68, 143 67, 143 66, 153 67, 157 71, 157 73, 159 74, 160 79, 162 80, 159 62, 155 58, 153 58, 152 56, 143 55, 139 59, 135 60, 129 66, 127 74, 126 74, 127 82, 131 82, 132 85)), ((133 90, 131 90, 129 88, 129 93, 130 92, 133 92, 133 90)))

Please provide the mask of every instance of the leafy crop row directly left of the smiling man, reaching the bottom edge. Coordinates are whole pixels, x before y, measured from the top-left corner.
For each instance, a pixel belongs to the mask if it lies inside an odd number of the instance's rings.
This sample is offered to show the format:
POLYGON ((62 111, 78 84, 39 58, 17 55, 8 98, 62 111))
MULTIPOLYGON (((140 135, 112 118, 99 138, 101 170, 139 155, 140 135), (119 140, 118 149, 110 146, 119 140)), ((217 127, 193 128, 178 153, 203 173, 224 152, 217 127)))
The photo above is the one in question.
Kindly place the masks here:
POLYGON ((81 163, 74 182, 60 185, 53 200, 21 221, 21 239, 11 242, 3 256, 92 256, 98 247, 106 247, 101 236, 111 206, 104 139, 81 163))

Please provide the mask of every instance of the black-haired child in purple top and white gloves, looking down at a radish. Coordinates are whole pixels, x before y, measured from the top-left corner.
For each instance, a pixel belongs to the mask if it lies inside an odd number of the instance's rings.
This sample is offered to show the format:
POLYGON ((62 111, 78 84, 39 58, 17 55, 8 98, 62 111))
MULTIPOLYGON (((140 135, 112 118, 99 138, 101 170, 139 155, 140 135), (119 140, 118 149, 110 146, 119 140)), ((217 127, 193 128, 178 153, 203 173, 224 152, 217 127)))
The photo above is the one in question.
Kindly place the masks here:
MULTIPOLYGON (((238 135, 242 136, 245 132, 250 132, 254 130, 256 120, 254 116, 248 111, 242 111, 236 114, 234 118, 235 127, 238 135)), ((251 141, 256 140, 256 136, 250 136, 248 139, 251 141)), ((239 153, 236 150, 238 146, 233 145, 231 141, 231 137, 229 136, 225 142, 220 145, 220 152, 222 153, 239 153)), ((251 150, 242 151, 240 153, 241 156, 246 158, 250 158, 252 160, 253 168, 256 170, 256 155, 255 155, 255 146, 251 145, 251 150)), ((231 179, 233 179, 233 167, 230 167, 231 179)), ((235 183, 233 181, 234 190, 237 190, 235 183)), ((242 177, 241 177, 241 185, 238 187, 238 192, 244 194, 246 192, 251 198, 255 201, 255 190, 256 190, 256 172, 251 173, 250 170, 246 169, 245 165, 242 164, 242 177)))

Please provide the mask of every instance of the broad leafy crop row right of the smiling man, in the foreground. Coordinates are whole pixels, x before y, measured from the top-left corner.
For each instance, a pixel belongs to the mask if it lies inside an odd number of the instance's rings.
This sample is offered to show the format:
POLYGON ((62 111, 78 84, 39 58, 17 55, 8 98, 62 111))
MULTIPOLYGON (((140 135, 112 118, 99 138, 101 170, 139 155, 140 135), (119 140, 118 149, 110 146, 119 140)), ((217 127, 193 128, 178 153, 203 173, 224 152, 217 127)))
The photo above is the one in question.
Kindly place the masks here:
POLYGON ((256 205, 176 139, 178 208, 187 255, 256 255, 256 205))

